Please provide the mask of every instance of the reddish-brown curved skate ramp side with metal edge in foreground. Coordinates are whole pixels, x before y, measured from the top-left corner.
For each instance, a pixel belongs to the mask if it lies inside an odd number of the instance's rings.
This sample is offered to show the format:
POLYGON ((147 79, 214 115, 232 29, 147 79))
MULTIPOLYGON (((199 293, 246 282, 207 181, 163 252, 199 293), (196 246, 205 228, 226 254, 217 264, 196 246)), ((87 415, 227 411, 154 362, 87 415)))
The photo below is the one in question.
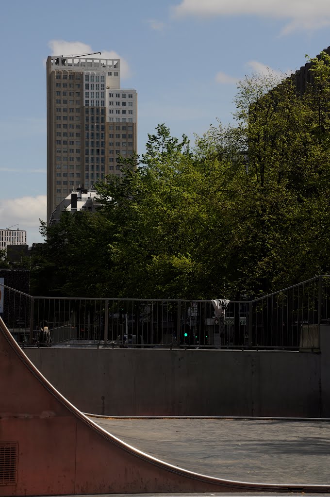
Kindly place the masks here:
POLYGON ((0 319, 0 496, 257 491, 328 493, 330 485, 224 480, 133 448, 70 404, 0 319))

